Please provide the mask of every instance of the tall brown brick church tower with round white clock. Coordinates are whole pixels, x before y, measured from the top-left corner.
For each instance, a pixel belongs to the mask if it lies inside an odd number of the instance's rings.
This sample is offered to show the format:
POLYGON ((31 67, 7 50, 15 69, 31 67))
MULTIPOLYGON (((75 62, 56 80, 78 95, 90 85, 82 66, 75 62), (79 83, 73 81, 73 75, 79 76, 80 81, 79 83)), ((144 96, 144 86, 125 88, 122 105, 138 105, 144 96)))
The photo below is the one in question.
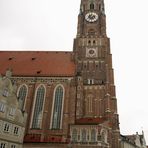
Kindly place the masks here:
POLYGON ((98 140, 101 148, 119 148, 117 99, 104 0, 81 0, 73 52, 77 86, 76 125, 71 126, 71 136, 76 140, 74 133, 78 130, 84 143, 87 139, 90 144, 98 140), (85 137, 86 132, 90 135, 85 137), (96 132, 97 139, 93 136, 96 132))

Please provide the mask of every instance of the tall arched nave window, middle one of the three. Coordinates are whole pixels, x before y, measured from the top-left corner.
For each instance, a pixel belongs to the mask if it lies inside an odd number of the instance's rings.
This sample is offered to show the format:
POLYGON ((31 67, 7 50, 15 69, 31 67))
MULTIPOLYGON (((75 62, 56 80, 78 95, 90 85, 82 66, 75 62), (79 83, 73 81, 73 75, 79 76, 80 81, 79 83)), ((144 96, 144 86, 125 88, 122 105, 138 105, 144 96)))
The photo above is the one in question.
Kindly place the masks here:
POLYGON ((45 88, 41 85, 36 91, 32 128, 41 128, 45 88))

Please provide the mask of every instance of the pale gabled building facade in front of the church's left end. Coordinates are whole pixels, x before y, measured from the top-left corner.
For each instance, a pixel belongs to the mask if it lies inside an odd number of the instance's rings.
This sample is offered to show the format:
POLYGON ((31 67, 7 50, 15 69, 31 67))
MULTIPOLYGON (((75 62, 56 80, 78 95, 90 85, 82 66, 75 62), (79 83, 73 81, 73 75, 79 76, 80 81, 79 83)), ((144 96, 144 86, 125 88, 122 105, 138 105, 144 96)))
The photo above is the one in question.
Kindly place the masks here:
POLYGON ((0 148, 22 148, 26 113, 19 109, 11 71, 0 76, 0 148))

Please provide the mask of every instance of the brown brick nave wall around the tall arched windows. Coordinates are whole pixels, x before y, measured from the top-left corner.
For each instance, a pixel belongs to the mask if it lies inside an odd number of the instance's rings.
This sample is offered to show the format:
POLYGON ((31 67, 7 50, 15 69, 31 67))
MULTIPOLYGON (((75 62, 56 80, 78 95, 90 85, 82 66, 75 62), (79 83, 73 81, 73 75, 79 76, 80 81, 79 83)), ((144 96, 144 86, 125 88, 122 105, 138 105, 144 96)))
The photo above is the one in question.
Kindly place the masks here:
MULTIPOLYGON (((25 100, 24 110, 28 113, 27 125, 25 135, 31 134, 39 134, 40 140, 44 141, 45 139, 49 139, 50 135, 60 136, 62 140, 66 140, 69 134, 68 126, 69 124, 74 124, 75 121, 75 95, 76 88, 74 85, 74 78, 72 77, 41 77, 41 78, 21 78, 21 77, 13 77, 13 81, 15 81, 19 86, 22 84, 26 84, 28 86, 28 94, 25 100), (34 101, 35 101, 35 93, 37 88, 43 85, 46 89, 46 95, 43 105, 43 114, 42 114, 42 124, 40 129, 32 129, 31 123, 33 118, 33 110, 34 110, 34 101), (51 121, 52 121, 52 106, 53 106, 53 98, 55 88, 61 85, 63 86, 64 93, 64 106, 63 106, 63 118, 62 118, 62 129, 52 130, 51 129, 51 121)), ((19 90, 19 89, 18 89, 19 90)))

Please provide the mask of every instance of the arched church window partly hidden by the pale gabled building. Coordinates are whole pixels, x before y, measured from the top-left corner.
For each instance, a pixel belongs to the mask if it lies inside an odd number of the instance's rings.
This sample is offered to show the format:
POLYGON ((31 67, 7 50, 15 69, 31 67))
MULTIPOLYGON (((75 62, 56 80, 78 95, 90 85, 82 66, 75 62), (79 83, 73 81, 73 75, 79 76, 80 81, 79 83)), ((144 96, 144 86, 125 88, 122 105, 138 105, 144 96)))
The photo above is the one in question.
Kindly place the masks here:
POLYGON ((20 88, 18 89, 17 96, 18 96, 19 108, 21 110, 24 110, 25 99, 27 97, 27 86, 26 85, 20 86, 20 88))

